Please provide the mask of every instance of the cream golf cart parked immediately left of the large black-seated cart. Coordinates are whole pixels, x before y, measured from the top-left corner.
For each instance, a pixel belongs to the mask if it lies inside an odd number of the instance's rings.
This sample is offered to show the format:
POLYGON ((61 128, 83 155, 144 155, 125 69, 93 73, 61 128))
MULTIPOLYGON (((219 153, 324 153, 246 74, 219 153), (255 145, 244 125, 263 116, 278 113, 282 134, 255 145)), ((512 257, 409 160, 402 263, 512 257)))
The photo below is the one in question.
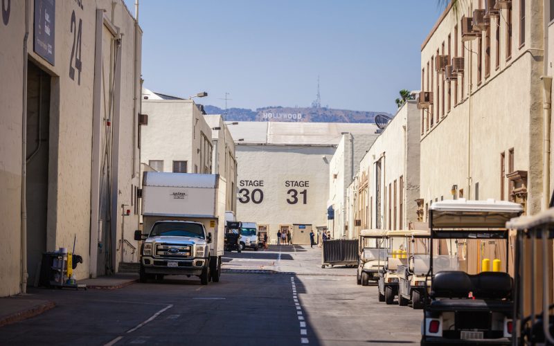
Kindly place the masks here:
POLYGON ((423 297, 429 271, 429 231, 413 230, 406 235, 408 265, 398 266, 398 304, 405 307, 412 303, 413 309, 423 309, 423 297))

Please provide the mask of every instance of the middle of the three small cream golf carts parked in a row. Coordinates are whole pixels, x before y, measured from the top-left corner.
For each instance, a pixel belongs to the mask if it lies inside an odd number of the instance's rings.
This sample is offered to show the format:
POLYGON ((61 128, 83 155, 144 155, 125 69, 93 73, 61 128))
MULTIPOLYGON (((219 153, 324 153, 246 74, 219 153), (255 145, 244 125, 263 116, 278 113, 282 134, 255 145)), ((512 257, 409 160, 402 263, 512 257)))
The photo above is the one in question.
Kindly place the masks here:
MULTIPOLYGON (((398 294, 398 282, 400 280, 398 266, 406 266, 408 264, 406 235, 409 235, 409 233, 410 231, 407 230, 388 230, 385 233, 384 242, 379 244, 379 246, 386 248, 384 266, 379 268, 379 278, 377 281, 379 302, 393 304, 394 298, 398 294)), ((379 262, 382 260, 382 257, 379 257, 379 262)))

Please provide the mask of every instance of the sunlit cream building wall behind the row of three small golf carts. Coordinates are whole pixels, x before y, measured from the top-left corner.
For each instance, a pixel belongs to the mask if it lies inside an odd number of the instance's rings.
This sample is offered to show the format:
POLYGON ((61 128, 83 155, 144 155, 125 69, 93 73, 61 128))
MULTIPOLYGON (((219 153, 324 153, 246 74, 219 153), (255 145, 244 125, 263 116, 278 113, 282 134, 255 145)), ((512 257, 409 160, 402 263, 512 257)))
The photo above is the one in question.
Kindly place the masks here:
POLYGON ((348 188, 350 217, 359 220, 356 235, 367 228, 407 229, 418 221, 419 129, 418 109, 409 100, 361 159, 348 188))

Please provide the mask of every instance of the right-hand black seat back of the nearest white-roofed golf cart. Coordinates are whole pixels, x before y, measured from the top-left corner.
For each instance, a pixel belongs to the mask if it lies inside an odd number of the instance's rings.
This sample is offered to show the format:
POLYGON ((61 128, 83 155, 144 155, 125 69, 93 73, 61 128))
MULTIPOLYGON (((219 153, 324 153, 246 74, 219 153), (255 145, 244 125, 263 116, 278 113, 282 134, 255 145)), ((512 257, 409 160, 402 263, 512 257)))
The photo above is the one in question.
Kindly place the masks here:
POLYGON ((512 277, 508 273, 483 271, 470 275, 473 295, 480 299, 507 299, 512 295, 512 277))

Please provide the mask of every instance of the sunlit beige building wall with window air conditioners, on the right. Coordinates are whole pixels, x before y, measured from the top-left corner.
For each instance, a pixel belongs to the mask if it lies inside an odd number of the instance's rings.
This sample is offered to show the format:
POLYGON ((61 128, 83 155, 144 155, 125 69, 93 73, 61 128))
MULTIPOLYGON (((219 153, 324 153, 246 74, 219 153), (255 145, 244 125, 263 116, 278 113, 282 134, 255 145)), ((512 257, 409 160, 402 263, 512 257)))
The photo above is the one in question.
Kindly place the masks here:
POLYGON ((441 198, 452 199, 454 187, 456 197, 467 199, 526 199, 521 200, 526 212, 533 214, 543 198, 543 1, 526 1, 524 21, 519 1, 512 1, 511 12, 501 10, 488 30, 462 42, 461 16, 470 15, 479 3, 469 1, 457 13, 447 8, 422 45, 422 90, 434 92, 434 104, 420 111, 421 197, 428 207, 441 198), (437 51, 464 57, 463 74, 445 81, 444 87, 444 74, 431 68, 437 51), (517 171, 510 181, 506 174, 517 171), (523 185, 526 193, 512 194, 523 185))

